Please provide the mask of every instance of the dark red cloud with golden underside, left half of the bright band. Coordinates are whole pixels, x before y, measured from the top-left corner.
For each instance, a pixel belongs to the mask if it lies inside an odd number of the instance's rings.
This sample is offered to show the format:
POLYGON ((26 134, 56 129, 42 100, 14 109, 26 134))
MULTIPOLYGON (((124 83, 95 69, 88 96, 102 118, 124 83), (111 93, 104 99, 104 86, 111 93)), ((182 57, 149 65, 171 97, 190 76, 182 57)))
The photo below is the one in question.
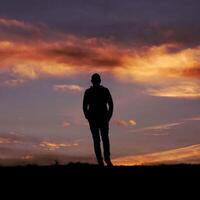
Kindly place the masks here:
POLYGON ((109 47, 103 41, 67 37, 56 42, 0 41, 0 44, 0 69, 21 79, 109 72, 121 64, 117 48, 109 47))

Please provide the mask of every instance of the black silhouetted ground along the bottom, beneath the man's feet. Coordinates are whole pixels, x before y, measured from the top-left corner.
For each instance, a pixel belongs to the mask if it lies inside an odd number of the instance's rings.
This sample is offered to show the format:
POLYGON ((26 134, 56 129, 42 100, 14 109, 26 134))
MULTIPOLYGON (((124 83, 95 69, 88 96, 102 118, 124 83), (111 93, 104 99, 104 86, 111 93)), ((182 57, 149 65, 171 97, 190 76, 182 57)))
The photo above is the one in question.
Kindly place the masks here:
POLYGON ((161 195, 160 199, 163 199, 176 192, 180 195, 187 193, 193 199, 191 195, 200 191, 200 165, 101 168, 72 163, 65 166, 0 167, 0 177, 1 191, 17 188, 21 194, 28 191, 32 195, 42 192, 57 196, 91 196, 95 193, 94 197, 99 197, 112 191, 113 195, 161 195))

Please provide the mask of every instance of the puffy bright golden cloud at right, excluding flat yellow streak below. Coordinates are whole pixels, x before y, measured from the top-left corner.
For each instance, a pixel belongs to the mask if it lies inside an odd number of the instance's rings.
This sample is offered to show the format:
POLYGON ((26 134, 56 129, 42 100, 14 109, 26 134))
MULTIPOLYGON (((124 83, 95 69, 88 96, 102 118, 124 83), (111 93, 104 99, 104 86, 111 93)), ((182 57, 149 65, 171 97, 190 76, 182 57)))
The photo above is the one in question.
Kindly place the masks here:
POLYGON ((187 69, 199 67, 200 47, 179 49, 171 52, 171 48, 179 48, 177 44, 136 49, 125 59, 125 65, 116 69, 121 78, 130 77, 142 83, 162 83, 171 78, 188 77, 187 69))

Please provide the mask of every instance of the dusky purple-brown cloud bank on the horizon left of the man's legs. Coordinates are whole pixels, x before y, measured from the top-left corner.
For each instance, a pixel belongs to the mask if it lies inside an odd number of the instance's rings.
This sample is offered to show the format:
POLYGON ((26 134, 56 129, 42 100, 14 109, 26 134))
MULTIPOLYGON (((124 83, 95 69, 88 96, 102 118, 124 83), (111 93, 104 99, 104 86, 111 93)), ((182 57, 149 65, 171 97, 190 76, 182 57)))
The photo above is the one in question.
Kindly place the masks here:
POLYGON ((74 155, 75 148, 79 147, 81 139, 74 141, 48 140, 37 136, 29 136, 16 132, 0 133, 0 165, 27 165, 27 164, 66 164, 68 162, 89 161, 93 158, 74 155), (72 150, 73 149, 73 150, 72 150), (68 150, 66 152, 66 150, 68 150), (70 156, 67 153, 73 155, 70 156))

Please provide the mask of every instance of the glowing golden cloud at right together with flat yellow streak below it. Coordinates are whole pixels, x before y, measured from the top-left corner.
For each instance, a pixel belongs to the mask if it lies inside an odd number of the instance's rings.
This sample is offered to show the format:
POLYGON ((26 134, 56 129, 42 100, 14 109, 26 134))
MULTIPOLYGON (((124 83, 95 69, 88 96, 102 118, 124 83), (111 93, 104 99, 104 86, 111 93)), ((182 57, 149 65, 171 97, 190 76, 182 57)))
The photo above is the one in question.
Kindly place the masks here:
POLYGON ((175 44, 164 44, 139 50, 127 57, 123 66, 114 69, 122 80, 144 85, 152 96, 196 99, 199 96, 200 48, 171 52, 175 44), (187 71, 196 72, 191 76, 187 71))

